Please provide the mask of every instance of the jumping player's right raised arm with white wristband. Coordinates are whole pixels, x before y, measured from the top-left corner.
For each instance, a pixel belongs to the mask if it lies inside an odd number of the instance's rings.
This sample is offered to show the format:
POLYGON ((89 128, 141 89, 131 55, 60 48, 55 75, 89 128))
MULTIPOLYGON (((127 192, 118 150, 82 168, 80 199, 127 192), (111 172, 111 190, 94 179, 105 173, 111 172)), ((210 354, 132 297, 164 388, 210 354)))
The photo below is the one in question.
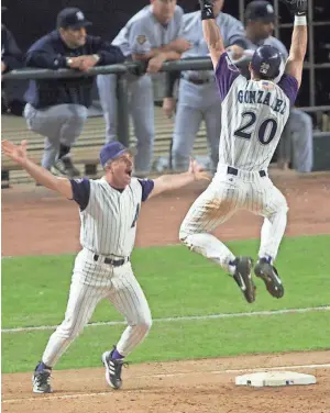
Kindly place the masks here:
POLYGON ((292 46, 285 71, 297 79, 299 87, 301 83, 302 66, 307 48, 307 1, 308 0, 284 0, 292 12, 295 13, 292 46))

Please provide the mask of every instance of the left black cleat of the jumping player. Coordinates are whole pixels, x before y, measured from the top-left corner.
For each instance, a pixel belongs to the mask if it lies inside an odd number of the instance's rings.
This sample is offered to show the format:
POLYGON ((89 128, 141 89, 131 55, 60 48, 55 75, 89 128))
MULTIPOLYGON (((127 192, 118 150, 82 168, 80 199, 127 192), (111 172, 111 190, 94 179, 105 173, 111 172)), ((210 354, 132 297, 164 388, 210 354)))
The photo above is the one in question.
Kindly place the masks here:
POLYGON ((251 257, 238 257, 233 264, 235 265, 233 279, 243 292, 245 300, 252 303, 255 300, 255 286, 251 276, 253 259, 251 257))

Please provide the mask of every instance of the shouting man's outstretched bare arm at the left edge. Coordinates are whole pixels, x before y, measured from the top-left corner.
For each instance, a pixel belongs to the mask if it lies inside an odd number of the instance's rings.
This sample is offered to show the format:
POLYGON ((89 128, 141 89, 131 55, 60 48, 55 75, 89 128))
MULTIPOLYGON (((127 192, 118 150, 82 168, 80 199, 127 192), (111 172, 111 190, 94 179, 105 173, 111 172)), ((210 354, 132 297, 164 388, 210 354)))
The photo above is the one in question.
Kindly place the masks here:
POLYGON ((73 198, 73 189, 68 179, 54 177, 54 175, 47 169, 29 159, 26 155, 26 141, 22 141, 21 145, 14 145, 9 141, 2 141, 1 150, 9 158, 21 165, 21 167, 24 168, 36 182, 61 193, 67 199, 73 198))

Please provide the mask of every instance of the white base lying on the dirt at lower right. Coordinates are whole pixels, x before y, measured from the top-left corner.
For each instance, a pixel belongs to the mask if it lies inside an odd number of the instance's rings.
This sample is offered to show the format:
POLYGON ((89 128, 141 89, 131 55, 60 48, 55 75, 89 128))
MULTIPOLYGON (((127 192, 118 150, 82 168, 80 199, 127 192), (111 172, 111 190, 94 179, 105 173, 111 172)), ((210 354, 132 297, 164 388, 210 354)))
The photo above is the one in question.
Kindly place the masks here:
POLYGON ((315 384, 316 377, 295 371, 262 371, 235 378, 237 386, 249 387, 279 387, 297 384, 315 384))

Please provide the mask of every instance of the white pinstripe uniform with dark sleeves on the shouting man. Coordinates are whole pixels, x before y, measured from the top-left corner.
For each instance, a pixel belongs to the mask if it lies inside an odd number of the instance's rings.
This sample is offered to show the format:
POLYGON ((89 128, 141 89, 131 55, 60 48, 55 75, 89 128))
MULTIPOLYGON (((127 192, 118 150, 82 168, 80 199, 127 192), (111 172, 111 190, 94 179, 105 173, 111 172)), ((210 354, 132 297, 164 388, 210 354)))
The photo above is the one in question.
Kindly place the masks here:
POLYGON ((135 279, 130 255, 141 202, 153 181, 132 178, 123 190, 105 178, 72 180, 74 200, 80 206, 80 244, 75 261, 65 320, 51 336, 43 362, 53 367, 90 320, 98 302, 109 300, 125 317, 128 327, 117 349, 127 356, 143 341, 152 324, 145 295, 135 279))

